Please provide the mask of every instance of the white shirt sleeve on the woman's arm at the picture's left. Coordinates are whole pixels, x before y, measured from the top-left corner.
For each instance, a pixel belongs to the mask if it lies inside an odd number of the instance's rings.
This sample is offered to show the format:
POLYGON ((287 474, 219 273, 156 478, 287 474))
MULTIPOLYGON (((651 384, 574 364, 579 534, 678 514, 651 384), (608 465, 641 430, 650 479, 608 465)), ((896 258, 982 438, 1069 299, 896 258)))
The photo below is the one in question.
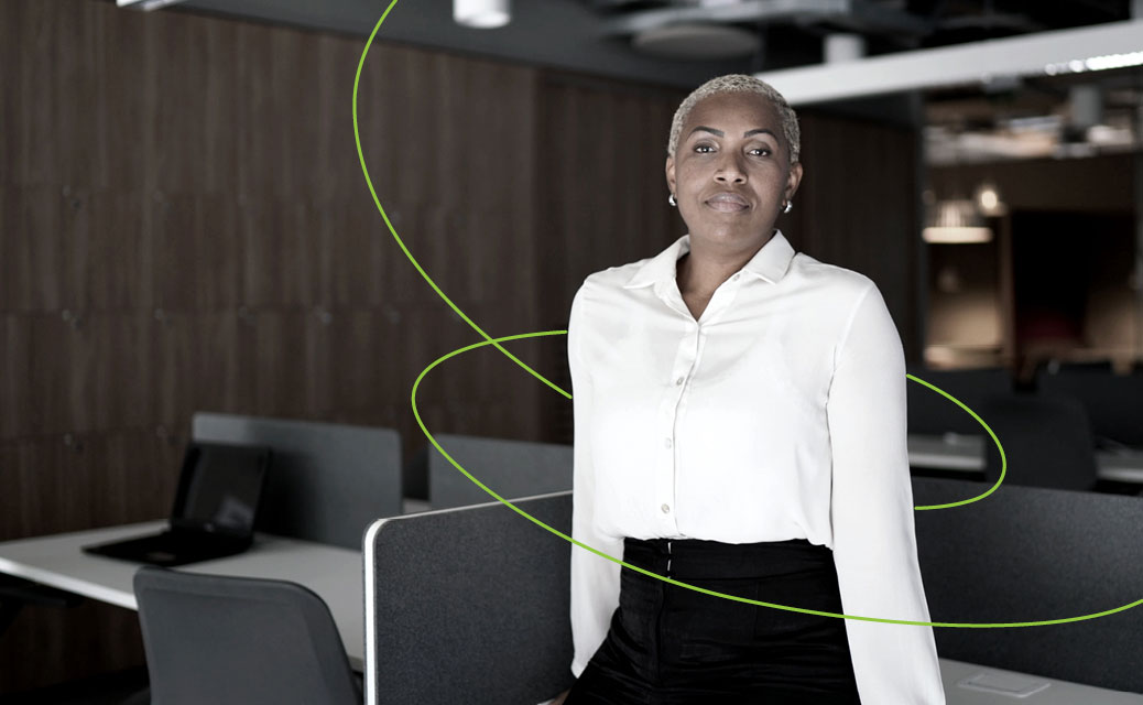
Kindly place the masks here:
MULTIPOLYGON (((623 540, 599 532, 594 521, 596 479, 591 462, 590 416, 592 383, 582 355, 584 290, 572 303, 568 323, 568 364, 575 416, 575 447, 572 491, 572 537, 585 545, 623 558, 623 540)), ((604 642, 612 614, 620 603, 620 566, 580 546, 572 546, 572 636, 575 657, 572 673, 580 678, 604 642)))

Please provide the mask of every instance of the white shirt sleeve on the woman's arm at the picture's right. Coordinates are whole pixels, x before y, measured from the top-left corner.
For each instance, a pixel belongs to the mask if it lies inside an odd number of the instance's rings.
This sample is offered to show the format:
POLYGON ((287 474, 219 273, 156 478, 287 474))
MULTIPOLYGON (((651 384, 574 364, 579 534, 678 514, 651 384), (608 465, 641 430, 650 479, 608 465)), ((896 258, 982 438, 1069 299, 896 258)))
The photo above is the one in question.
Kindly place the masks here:
MULTIPOLYGON (((826 416, 833 559, 847 615, 929 622, 917 561, 905 361, 881 293, 855 304, 836 352, 826 416)), ((944 703, 933 627, 846 620, 863 703, 944 703)))

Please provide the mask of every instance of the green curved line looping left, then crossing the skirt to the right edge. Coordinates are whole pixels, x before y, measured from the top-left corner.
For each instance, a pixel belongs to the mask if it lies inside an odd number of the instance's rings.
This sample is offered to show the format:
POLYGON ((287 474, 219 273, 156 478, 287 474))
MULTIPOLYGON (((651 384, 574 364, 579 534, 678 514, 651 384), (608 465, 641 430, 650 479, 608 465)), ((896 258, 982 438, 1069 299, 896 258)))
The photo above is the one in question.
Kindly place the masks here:
POLYGON ((480 489, 482 489, 486 492, 488 492, 489 495, 491 495, 501 504, 506 505, 509 508, 511 508, 517 514, 523 516, 528 521, 530 521, 534 524, 536 524, 536 526, 545 529, 546 531, 551 531, 555 536, 559 536, 560 538, 562 538, 563 540, 566 540, 566 542, 568 542, 568 543, 570 543, 573 545, 580 546, 581 548, 583 548, 585 551, 591 551, 596 555, 598 555, 600 558, 606 558, 607 560, 612 561, 613 563, 618 563, 620 566, 622 566, 624 568, 628 568, 630 570, 636 570, 636 571, 641 572, 641 574, 644 574, 644 575, 646 575, 648 577, 652 577, 652 578, 655 578, 655 579, 658 579, 658 580, 663 580, 664 583, 670 583, 671 585, 677 585, 679 587, 686 587, 687 590, 694 590, 695 592, 705 593, 708 595, 713 595, 716 598, 724 598, 726 600, 734 600, 735 602, 745 602, 746 604, 757 604, 758 607, 770 607, 770 608, 774 608, 774 609, 784 609, 784 610, 788 610, 788 611, 791 611, 791 612, 804 612, 804 614, 807 614, 807 615, 818 615, 821 617, 836 617, 838 619, 855 619, 855 620, 861 620, 861 622, 880 622, 880 623, 884 623, 884 624, 905 624, 905 625, 910 625, 910 626, 945 626, 945 627, 977 628, 977 630, 978 628, 1005 628, 1005 627, 1017 627, 1017 626, 1047 626, 1047 625, 1050 625, 1050 624, 1068 624, 1070 622, 1084 622, 1086 619, 1095 619, 1097 617, 1105 617, 1108 615, 1113 615, 1116 612, 1121 612, 1121 611, 1128 610, 1128 609, 1130 609, 1130 608, 1133 608, 1133 607, 1135 607, 1135 606, 1137 606, 1140 603, 1143 603, 1143 599, 1140 599, 1140 600, 1136 600, 1135 602, 1132 602, 1129 604, 1124 604, 1122 607, 1117 607, 1117 608, 1113 608, 1113 609, 1104 610, 1102 612, 1094 612, 1094 614, 1090 614, 1090 615, 1080 615, 1078 617, 1064 617, 1062 619, 1044 619, 1044 620, 1040 620, 1040 622, 989 622, 989 623, 984 623, 984 622, 909 622, 909 620, 905 620, 905 619, 886 619, 886 618, 882 618, 882 617, 862 617, 860 615, 839 615, 839 614, 836 614, 836 612, 823 612, 823 611, 820 611, 820 610, 806 609, 806 608, 801 608, 801 607, 790 607, 788 604, 775 604, 773 602, 762 602, 761 600, 751 600, 749 598, 740 598, 737 595, 728 595, 726 593, 717 592, 717 591, 713 591, 713 590, 706 590, 705 587, 697 587, 695 585, 690 585, 688 583, 682 583, 682 582, 676 580, 673 578, 661 576, 658 574, 652 572, 652 571, 646 570, 644 568, 639 568, 638 566, 632 566, 630 563, 625 563, 625 562, 621 561, 617 558, 613 558, 613 556, 604 553, 602 551, 598 551, 598 550, 592 548, 591 546, 589 546, 586 544, 577 542, 576 539, 572 538, 567 534, 563 534, 562 531, 547 526, 546 523, 539 521, 538 519, 536 519, 531 514, 529 514, 529 513, 525 512, 523 510, 521 510, 520 507, 515 506, 514 504, 512 504, 507 499, 504 499, 503 497, 501 497, 499 495, 497 495, 495 491, 493 491, 491 489, 489 489, 483 482, 481 482, 480 480, 475 479, 471 473, 469 473, 469 471, 464 470, 464 467, 459 463, 457 463, 455 459, 453 459, 453 456, 448 455, 448 451, 446 451, 443 448, 441 448, 440 443, 437 442, 437 439, 434 439, 433 435, 432 435, 432 433, 430 433, 429 428, 424 424, 424 420, 422 420, 422 418, 421 418, 421 412, 417 410, 417 388, 421 386, 421 380, 424 379, 425 376, 430 371, 432 371, 432 369, 434 367, 437 367, 438 364, 440 364, 445 360, 448 360, 449 358, 454 358, 454 356, 456 356, 456 355, 458 355, 461 353, 469 352, 470 350, 474 350, 477 347, 483 347, 485 345, 495 345, 497 349, 499 349, 501 347, 499 343, 501 342, 505 342, 505 341, 518 341, 518 339, 521 339, 521 338, 534 338, 534 337, 539 337, 539 336, 566 335, 566 334, 567 334, 566 330, 544 330, 544 331, 541 331, 541 333, 522 333, 522 334, 514 335, 514 336, 504 336, 502 338, 496 338, 494 341, 481 341, 480 343, 473 343, 472 345, 465 345, 464 347, 461 347, 458 350, 454 350, 453 352, 447 353, 445 355, 441 355, 440 358, 437 358, 435 360, 433 360, 432 364, 430 364, 429 367, 426 367, 425 369, 423 369, 421 371, 421 374, 417 375, 416 382, 413 383, 413 393, 410 395, 410 399, 411 399, 411 402, 413 402, 413 414, 414 414, 414 416, 416 416, 417 425, 421 426, 421 431, 424 432, 425 436, 429 439, 429 442, 431 442, 433 444, 433 447, 435 447, 437 450, 440 451, 441 455, 443 455, 446 458, 448 458, 448 462, 451 463, 454 467, 456 467, 462 473, 464 473, 465 478, 467 478, 469 480, 471 480, 472 482, 474 482, 477 484, 477 487, 479 487, 480 489))

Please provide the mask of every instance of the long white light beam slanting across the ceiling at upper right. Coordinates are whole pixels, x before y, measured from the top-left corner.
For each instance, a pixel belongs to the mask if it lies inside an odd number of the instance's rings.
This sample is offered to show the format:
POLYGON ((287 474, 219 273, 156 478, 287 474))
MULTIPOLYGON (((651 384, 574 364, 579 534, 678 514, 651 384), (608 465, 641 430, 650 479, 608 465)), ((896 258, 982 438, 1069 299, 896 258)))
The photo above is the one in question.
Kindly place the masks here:
POLYGON ((1135 65, 1143 65, 1141 19, 754 75, 773 85, 786 101, 797 105, 924 88, 990 83, 1005 77, 1103 71, 1135 65))

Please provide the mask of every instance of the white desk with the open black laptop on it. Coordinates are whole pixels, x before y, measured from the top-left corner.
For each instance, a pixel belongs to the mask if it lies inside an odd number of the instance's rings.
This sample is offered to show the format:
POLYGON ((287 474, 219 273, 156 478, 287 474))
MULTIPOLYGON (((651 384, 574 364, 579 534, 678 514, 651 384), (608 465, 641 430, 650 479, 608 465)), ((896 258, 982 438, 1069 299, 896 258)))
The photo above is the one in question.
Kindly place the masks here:
MULTIPOLYGON (((158 532, 166 521, 56 534, 0 543, 0 572, 93 600, 138 609, 131 579, 138 564, 90 555, 80 546, 158 532)), ((363 670, 361 553, 278 536, 258 535, 246 553, 176 570, 290 580, 318 593, 337 623, 350 664, 363 670)))

